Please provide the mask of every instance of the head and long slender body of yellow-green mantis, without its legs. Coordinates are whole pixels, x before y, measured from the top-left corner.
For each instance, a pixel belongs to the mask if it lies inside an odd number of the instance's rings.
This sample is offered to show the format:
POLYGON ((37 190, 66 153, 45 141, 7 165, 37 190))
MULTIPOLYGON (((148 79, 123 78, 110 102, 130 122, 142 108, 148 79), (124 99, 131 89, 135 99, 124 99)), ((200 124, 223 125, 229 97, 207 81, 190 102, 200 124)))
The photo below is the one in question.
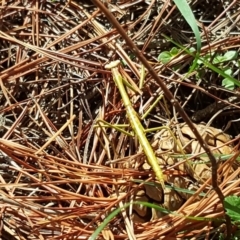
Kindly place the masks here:
POLYGON ((138 141, 147 157, 148 163, 151 165, 151 167, 156 175, 157 180, 160 182, 160 184, 162 185, 162 188, 164 189, 165 184, 164 184, 163 172, 158 164, 158 160, 153 151, 153 148, 150 145, 150 143, 145 135, 146 130, 142 126, 142 124, 139 120, 138 114, 134 110, 134 108, 131 104, 131 101, 128 97, 127 91, 124 86, 123 77, 118 70, 119 64, 120 64, 120 61, 116 60, 116 61, 110 62, 109 64, 105 65, 105 68, 111 70, 111 72, 112 72, 113 80, 121 94, 123 104, 126 108, 126 113, 127 113, 130 125, 132 127, 133 134, 138 139, 138 141))

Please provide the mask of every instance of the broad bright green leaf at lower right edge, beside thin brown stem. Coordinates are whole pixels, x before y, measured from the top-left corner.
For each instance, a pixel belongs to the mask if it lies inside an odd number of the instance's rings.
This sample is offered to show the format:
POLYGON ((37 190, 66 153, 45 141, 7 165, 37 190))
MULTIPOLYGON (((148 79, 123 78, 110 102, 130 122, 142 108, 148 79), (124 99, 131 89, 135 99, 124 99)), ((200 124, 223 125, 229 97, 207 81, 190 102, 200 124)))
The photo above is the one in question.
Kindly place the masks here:
POLYGON ((240 222, 240 197, 228 196, 224 199, 224 208, 227 215, 234 222, 240 222))

